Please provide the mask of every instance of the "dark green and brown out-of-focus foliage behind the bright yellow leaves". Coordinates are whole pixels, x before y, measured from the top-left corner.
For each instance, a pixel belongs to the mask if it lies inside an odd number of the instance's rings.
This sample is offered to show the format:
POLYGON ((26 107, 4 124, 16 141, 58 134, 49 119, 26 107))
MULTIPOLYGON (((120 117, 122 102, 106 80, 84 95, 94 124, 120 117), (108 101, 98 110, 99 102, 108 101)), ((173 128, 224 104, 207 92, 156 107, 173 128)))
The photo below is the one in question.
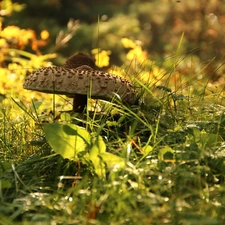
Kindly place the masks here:
POLYGON ((208 77, 213 80, 223 77, 224 1, 15 2, 23 4, 24 9, 4 17, 4 27, 16 25, 35 29, 36 33, 48 30, 51 38, 48 40, 49 45, 43 48, 43 53, 57 50, 63 58, 77 51, 90 52, 93 48, 101 48, 111 51, 111 64, 121 65, 125 62, 126 50, 120 40, 128 37, 139 42, 149 53, 148 57, 164 62, 168 56, 172 57, 176 53, 184 34, 180 54, 188 57, 180 66, 186 67, 183 72, 189 75, 199 71, 198 65, 203 63, 204 73, 208 77), (59 31, 66 31, 70 18, 79 20, 80 27, 64 48, 57 49, 54 46, 55 39, 59 31))

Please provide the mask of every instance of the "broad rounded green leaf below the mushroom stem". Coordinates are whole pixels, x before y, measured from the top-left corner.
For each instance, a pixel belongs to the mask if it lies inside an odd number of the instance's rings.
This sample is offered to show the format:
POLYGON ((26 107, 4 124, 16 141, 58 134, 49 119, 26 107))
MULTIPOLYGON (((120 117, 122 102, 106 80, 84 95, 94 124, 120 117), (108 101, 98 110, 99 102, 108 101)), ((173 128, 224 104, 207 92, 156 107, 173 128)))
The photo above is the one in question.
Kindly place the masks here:
POLYGON ((44 132, 49 145, 63 158, 79 160, 78 154, 91 142, 89 133, 73 124, 46 124, 44 132))

